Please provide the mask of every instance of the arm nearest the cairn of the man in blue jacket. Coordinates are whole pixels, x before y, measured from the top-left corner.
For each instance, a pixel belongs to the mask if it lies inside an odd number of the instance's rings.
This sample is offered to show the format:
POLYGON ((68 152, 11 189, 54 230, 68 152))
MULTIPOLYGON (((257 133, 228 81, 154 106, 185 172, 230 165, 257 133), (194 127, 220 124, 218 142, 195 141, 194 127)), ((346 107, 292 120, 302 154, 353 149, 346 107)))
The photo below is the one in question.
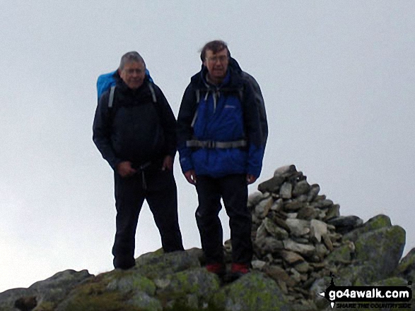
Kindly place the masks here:
POLYGON ((243 97, 245 132, 248 141, 247 183, 254 183, 262 170, 265 145, 262 142, 259 107, 255 102, 255 94, 250 83, 245 83, 243 97))

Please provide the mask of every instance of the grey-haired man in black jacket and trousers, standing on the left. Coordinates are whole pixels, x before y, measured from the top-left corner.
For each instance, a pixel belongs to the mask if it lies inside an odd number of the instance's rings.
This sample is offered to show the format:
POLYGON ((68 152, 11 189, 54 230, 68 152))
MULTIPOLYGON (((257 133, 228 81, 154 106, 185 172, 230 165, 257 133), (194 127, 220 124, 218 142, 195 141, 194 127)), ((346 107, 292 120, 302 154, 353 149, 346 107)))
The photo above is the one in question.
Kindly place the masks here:
POLYGON ((144 199, 156 221, 163 250, 183 250, 173 176, 176 121, 163 92, 146 75, 139 53, 124 54, 114 78, 116 87, 98 101, 93 142, 114 169, 114 267, 129 269, 135 264, 135 233, 144 199))

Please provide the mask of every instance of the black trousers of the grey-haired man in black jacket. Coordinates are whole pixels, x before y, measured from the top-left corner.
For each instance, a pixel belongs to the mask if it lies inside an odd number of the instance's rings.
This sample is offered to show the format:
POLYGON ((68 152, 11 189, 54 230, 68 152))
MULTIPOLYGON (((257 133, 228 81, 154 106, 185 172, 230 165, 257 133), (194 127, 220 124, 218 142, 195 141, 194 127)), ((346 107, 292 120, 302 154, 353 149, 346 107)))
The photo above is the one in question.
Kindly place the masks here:
MULTIPOLYGON (((115 172, 117 209, 112 255, 122 262, 134 260, 136 227, 144 199, 153 213, 165 252, 184 250, 177 215, 177 188, 173 171, 160 169, 122 178, 115 172)), ((149 237, 153 238, 153 237, 149 237)))

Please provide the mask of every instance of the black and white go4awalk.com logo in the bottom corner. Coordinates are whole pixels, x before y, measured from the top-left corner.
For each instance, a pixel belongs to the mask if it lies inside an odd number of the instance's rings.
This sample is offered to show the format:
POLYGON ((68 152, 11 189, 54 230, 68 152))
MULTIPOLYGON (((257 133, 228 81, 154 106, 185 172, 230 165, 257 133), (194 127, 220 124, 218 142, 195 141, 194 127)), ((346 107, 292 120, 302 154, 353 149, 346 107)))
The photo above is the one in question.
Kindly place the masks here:
POLYGON ((320 293, 332 308, 411 309, 412 290, 409 286, 336 286, 334 275, 330 286, 320 293))

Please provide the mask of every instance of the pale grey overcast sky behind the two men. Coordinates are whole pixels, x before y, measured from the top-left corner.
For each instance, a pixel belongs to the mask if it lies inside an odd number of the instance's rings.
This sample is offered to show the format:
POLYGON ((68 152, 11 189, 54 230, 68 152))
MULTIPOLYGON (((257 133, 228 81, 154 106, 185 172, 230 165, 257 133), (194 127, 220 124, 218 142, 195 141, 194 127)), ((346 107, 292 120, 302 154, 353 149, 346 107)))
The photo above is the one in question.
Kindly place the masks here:
MULTIPOLYGON (((259 182, 295 164, 342 215, 387 214, 402 226, 406 254, 415 246, 414 16, 409 0, 2 0, 0 292, 64 269, 112 269, 113 176, 92 141, 96 79, 139 51, 177 116, 211 39, 228 42, 262 87, 259 182)), ((178 161, 175 176, 185 248, 200 247, 197 195, 178 161)), ((136 256, 158 248, 145 205, 136 256)))

